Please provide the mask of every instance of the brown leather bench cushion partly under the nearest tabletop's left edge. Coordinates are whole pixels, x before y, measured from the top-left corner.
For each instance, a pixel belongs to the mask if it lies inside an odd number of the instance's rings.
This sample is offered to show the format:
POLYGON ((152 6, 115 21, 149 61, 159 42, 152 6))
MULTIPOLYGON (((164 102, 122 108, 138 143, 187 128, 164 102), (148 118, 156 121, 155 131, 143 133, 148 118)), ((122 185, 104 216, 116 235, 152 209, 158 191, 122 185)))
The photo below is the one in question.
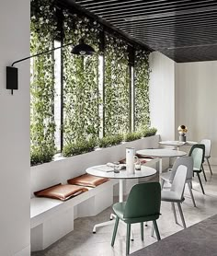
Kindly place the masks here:
POLYGON ((72 185, 79 185, 79 186, 95 188, 98 185, 100 185, 108 180, 109 179, 107 179, 107 178, 96 177, 96 176, 86 173, 84 175, 75 177, 75 178, 67 180, 67 181, 69 184, 72 184, 72 185))

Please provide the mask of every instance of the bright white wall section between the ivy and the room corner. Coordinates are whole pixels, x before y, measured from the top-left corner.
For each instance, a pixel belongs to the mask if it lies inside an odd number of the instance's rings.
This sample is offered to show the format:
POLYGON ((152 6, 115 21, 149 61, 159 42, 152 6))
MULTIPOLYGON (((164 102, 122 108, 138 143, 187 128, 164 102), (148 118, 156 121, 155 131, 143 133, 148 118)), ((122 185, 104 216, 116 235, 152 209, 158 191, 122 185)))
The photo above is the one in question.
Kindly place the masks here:
POLYGON ((160 52, 150 54, 151 125, 162 140, 175 139, 175 62, 160 52))

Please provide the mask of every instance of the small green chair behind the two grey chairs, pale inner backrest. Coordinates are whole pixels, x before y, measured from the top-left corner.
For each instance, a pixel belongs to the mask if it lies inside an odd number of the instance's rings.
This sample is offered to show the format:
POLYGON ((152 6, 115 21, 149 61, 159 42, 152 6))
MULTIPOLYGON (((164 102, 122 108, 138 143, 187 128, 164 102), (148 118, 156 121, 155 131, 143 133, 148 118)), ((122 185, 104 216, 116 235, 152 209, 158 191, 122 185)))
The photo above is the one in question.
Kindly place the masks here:
POLYGON ((204 169, 202 168, 202 163, 204 162, 204 157, 205 157, 205 145, 203 144, 192 145, 188 156, 193 157, 193 162, 194 162, 193 172, 197 173, 201 190, 205 194, 202 186, 202 182, 200 179, 200 172, 203 172, 204 178, 205 178, 205 172, 204 172, 204 169))

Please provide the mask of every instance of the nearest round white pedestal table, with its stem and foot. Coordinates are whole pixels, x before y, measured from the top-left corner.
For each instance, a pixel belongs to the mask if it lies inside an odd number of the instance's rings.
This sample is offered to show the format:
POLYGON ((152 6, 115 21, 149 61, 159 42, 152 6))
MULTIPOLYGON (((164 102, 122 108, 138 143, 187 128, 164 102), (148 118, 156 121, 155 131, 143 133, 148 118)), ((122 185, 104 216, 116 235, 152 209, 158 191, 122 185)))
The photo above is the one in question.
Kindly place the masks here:
MULTIPOLYGON (((123 202, 123 180, 127 179, 138 179, 153 176, 156 173, 154 168, 141 166, 141 170, 135 170, 133 174, 127 173, 126 169, 120 170, 120 173, 114 173, 113 168, 109 168, 106 165, 94 166, 86 169, 88 174, 109 178, 109 179, 118 179, 119 180, 119 202, 123 202)), ((93 228, 93 233, 96 233, 97 227, 104 227, 108 225, 114 224, 115 215, 110 215, 110 221, 106 221, 103 223, 98 223, 93 228)), ((133 234, 131 232, 131 239, 133 239, 133 234)))

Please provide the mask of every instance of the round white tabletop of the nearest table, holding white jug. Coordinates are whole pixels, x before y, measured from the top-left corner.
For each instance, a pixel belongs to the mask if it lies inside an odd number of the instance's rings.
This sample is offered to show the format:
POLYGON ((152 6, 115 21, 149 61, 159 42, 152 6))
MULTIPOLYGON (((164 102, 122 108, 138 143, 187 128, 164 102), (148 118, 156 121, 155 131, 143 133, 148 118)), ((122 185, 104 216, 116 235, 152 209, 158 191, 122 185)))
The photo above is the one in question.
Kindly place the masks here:
POLYGON ((91 174, 97 177, 122 180, 122 179, 136 179, 136 178, 153 176, 156 173, 156 170, 154 168, 141 166, 141 170, 135 170, 133 174, 127 173, 126 169, 120 170, 119 173, 114 173, 112 168, 109 168, 106 165, 100 165, 100 166, 90 167, 86 169, 86 172, 88 174, 91 174))

